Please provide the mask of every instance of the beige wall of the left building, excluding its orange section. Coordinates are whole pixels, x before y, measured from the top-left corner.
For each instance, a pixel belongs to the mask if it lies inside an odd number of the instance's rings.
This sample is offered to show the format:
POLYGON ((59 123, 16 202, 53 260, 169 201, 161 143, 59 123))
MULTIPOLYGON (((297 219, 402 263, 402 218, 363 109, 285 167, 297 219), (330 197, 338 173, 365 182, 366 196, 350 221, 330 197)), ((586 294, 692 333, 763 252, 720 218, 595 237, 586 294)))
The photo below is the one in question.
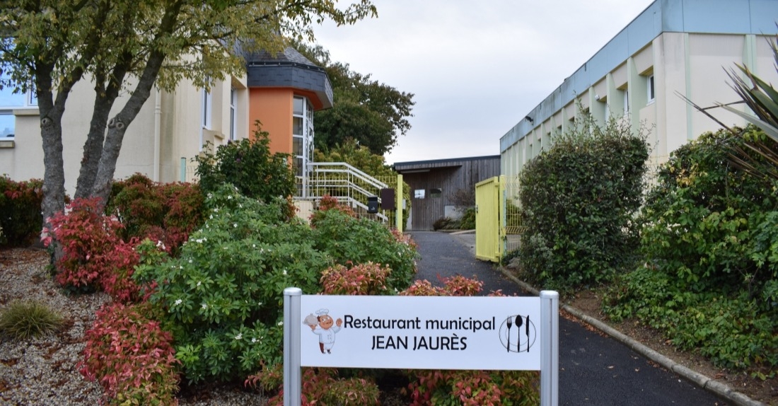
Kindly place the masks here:
MULTIPOLYGON (((94 93, 89 82, 73 89, 62 118, 65 159, 65 189, 75 192, 83 143, 89 132, 94 93)), ((44 154, 40 139, 37 103, 29 95, 0 97, 0 173, 14 180, 43 179, 44 154), (9 100, 10 99, 10 100, 9 100)), ((114 105, 116 111, 128 96, 114 105)), ((217 82, 210 92, 183 82, 173 92, 153 91, 138 117, 124 135, 117 159, 117 179, 143 173, 152 180, 191 180, 205 142, 216 145, 248 135, 248 90, 246 79, 217 82)))

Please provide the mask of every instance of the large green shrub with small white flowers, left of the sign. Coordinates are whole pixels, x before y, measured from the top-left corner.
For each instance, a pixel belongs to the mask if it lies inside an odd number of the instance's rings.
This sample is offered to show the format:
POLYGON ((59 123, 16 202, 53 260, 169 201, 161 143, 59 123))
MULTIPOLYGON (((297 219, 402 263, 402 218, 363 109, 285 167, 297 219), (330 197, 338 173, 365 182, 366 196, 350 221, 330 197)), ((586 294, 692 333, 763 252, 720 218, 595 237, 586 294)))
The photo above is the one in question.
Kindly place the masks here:
POLYGON ((149 301, 161 310, 192 383, 244 378, 261 362, 280 362, 283 289, 319 292, 321 271, 332 264, 314 249, 302 220, 286 220, 286 201, 263 203, 226 185, 206 197, 205 208, 202 229, 179 257, 147 261, 147 241, 133 275, 159 283, 149 301))

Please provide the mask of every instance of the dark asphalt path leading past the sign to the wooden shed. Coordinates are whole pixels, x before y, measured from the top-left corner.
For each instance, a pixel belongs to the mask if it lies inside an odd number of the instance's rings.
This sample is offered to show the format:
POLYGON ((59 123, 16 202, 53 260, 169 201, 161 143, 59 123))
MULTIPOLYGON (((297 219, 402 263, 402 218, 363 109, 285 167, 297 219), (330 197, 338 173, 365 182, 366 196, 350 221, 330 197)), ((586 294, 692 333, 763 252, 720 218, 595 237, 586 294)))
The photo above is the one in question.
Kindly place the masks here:
MULTIPOLYGON (((408 232, 419 245, 419 279, 463 275, 484 282, 484 293, 531 296, 489 262, 475 259, 473 236, 408 232)), ((605 334, 559 318, 559 404, 608 406, 724 406, 706 390, 657 367, 605 334)))

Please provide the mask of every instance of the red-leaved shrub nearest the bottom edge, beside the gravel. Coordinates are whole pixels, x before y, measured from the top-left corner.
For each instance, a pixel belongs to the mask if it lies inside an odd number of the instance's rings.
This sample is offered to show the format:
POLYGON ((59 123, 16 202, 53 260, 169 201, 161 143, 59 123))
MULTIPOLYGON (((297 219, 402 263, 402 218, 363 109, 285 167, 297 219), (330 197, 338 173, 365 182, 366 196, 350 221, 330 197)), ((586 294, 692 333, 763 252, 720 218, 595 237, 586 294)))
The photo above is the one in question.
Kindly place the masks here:
POLYGON ((173 336, 145 317, 151 305, 103 306, 86 331, 79 371, 103 387, 108 404, 178 404, 173 336))

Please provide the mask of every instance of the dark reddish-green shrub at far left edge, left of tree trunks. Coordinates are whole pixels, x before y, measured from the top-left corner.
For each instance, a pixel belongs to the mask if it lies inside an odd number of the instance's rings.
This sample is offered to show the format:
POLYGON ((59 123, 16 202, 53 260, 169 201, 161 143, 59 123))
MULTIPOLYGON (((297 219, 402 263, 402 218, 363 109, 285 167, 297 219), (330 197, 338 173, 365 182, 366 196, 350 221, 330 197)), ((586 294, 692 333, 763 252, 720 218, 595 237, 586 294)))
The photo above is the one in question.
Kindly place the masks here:
POLYGON ((43 181, 16 182, 0 177, 0 247, 22 247, 40 237, 43 181))

